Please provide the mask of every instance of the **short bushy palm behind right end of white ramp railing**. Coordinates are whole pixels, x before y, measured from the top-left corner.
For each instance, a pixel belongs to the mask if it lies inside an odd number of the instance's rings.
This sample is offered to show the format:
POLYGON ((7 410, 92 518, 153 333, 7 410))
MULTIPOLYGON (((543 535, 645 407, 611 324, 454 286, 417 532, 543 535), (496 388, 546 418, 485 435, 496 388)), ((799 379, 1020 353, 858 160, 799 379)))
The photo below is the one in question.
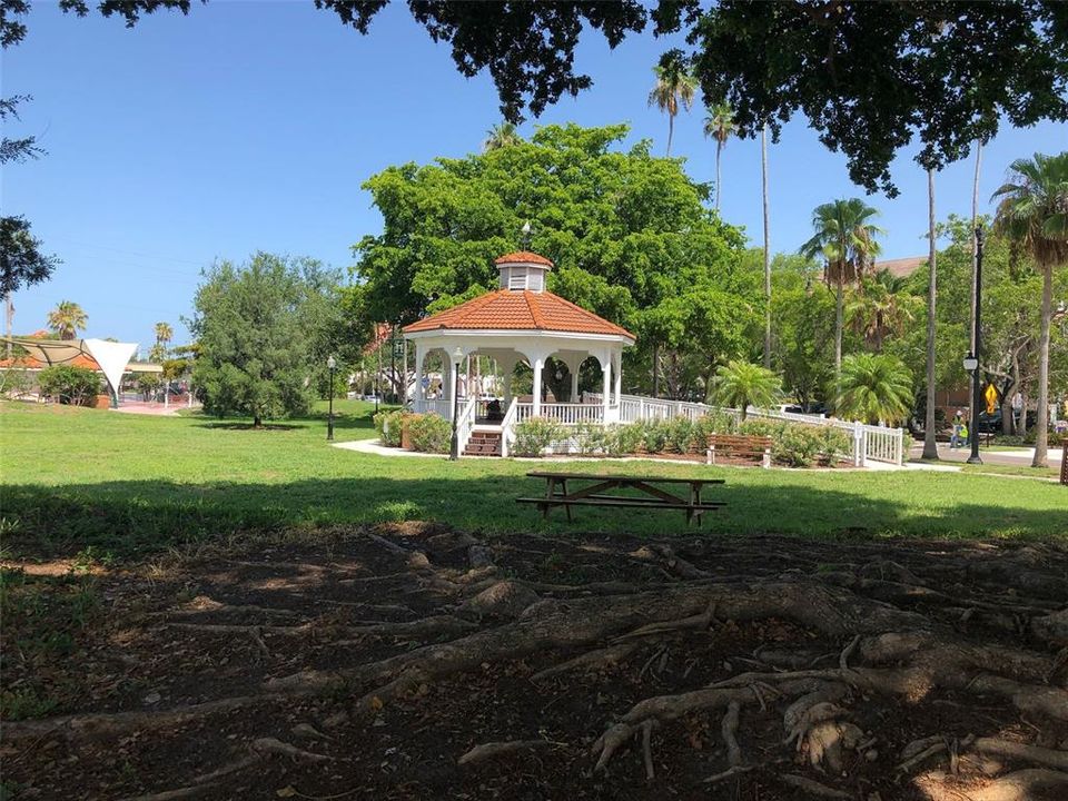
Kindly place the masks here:
POLYGON ((893 356, 847 356, 834 406, 839 417, 861 419, 872 425, 897 423, 912 407, 912 374, 901 359, 893 356))

